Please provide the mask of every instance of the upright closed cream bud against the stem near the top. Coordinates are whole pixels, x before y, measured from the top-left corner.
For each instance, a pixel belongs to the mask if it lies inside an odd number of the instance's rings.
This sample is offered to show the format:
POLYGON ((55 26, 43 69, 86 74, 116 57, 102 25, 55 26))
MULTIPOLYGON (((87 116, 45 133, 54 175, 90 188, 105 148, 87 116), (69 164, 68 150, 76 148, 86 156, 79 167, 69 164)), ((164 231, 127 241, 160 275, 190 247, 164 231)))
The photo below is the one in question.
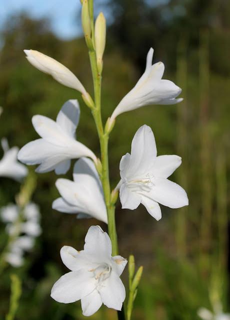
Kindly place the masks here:
POLYGON ((101 73, 103 68, 103 53, 105 48, 106 38, 106 21, 102 12, 98 15, 95 22, 95 50, 96 50, 96 64, 98 72, 101 73))

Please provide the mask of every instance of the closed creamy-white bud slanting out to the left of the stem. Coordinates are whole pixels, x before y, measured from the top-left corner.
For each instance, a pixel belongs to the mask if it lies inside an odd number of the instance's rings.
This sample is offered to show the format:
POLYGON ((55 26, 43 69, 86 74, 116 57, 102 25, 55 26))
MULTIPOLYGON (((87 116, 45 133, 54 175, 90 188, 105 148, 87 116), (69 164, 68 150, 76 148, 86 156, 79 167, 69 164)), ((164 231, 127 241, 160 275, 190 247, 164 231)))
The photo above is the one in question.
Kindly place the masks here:
POLYGON ((38 70, 51 75, 64 86, 78 90, 83 95, 87 94, 77 77, 61 63, 35 50, 24 50, 24 53, 26 59, 38 70))

